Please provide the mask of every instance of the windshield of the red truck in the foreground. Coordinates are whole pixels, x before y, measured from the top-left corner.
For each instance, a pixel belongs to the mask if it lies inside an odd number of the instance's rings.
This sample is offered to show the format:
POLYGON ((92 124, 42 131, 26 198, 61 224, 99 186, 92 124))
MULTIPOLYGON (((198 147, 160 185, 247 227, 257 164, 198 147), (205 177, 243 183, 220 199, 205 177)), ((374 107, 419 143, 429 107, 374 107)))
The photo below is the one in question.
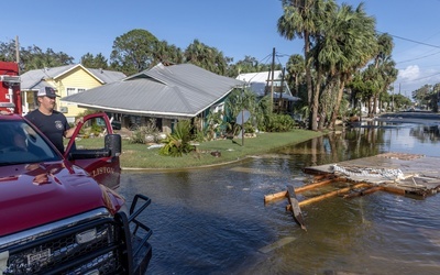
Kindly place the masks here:
POLYGON ((25 121, 0 121, 0 166, 62 160, 25 121))

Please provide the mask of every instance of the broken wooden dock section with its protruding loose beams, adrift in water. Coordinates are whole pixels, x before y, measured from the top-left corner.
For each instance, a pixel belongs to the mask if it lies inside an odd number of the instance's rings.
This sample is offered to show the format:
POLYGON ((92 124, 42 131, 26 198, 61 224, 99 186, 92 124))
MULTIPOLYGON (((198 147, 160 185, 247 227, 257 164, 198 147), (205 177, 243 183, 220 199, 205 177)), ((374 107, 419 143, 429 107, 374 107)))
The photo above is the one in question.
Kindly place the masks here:
POLYGON ((353 198, 375 191, 388 191, 402 196, 425 198, 440 190, 440 158, 424 155, 385 153, 304 168, 305 173, 315 175, 314 183, 300 187, 287 185, 286 190, 264 196, 268 204, 279 199, 288 199, 287 210, 306 230, 300 207, 341 196, 353 198), (323 193, 298 201, 296 194, 317 190, 336 183, 345 183, 344 187, 323 193))

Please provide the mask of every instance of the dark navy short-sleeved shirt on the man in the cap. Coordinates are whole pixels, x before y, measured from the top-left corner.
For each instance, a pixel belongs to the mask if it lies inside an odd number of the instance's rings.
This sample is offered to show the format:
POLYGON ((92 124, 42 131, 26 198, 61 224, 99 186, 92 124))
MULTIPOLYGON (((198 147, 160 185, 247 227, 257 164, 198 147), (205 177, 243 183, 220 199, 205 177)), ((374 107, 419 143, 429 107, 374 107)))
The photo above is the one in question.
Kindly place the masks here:
POLYGON ((36 109, 28 113, 25 118, 46 135, 62 154, 64 153, 64 132, 70 129, 70 127, 63 113, 54 110, 52 114, 46 116, 36 109))

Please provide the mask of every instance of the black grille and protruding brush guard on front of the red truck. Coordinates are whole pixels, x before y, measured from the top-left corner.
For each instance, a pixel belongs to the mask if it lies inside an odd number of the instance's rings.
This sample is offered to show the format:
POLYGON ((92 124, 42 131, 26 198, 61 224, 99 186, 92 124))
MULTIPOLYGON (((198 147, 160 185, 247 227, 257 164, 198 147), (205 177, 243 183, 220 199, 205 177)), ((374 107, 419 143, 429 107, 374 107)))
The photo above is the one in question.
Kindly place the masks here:
MULTIPOLYGON (((145 274, 152 257, 152 230, 139 220, 151 204, 136 195, 130 216, 99 218, 15 242, 8 253, 9 274, 145 274)), ((4 270, 6 268, 6 270, 4 270)))

